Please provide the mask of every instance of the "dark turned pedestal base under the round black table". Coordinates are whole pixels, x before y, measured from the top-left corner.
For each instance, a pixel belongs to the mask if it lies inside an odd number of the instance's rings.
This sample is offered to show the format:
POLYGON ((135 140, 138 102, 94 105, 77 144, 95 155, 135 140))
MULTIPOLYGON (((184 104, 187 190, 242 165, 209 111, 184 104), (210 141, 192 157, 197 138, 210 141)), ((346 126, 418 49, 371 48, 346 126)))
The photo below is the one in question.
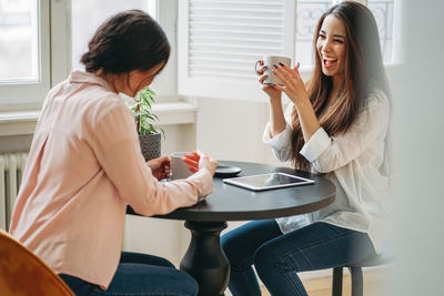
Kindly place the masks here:
POLYGON ((191 242, 180 268, 194 277, 199 296, 224 295, 230 279, 230 264, 221 247, 220 234, 226 222, 186 221, 191 242))

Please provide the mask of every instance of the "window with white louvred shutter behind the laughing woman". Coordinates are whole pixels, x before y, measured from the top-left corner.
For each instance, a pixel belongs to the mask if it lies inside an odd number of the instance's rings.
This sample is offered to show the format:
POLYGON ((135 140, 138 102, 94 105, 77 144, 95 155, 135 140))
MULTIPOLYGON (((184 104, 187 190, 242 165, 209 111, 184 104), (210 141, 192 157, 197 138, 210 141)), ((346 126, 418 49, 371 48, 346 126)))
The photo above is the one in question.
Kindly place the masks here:
MULTIPOLYGON (((253 71, 263 54, 292 57, 309 74, 320 17, 340 0, 179 1, 179 94, 266 99, 253 71)), ((395 0, 367 0, 392 61, 395 0)))

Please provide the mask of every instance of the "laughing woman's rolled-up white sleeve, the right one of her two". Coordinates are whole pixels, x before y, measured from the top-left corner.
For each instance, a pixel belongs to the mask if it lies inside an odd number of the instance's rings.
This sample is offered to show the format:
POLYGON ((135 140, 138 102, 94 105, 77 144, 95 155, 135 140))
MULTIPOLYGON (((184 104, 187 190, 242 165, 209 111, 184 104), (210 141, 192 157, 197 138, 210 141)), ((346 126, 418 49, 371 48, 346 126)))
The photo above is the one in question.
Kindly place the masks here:
POLYGON ((390 122, 385 95, 374 94, 371 104, 362 110, 345 133, 330 136, 320 127, 300 153, 320 173, 329 173, 355 160, 371 145, 383 142, 390 122))

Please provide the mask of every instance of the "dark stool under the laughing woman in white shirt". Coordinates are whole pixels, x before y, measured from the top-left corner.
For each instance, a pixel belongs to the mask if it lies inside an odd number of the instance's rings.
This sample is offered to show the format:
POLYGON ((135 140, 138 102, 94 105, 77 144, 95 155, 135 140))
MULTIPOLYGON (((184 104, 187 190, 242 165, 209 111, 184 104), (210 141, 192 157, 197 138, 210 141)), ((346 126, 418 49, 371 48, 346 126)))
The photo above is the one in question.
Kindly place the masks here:
POLYGON ((364 294, 364 277, 362 274, 363 267, 380 266, 390 263, 392 255, 390 253, 382 253, 372 258, 363 262, 339 266, 333 268, 333 296, 342 296, 342 272, 344 267, 347 267, 352 278, 352 296, 363 296, 364 294))

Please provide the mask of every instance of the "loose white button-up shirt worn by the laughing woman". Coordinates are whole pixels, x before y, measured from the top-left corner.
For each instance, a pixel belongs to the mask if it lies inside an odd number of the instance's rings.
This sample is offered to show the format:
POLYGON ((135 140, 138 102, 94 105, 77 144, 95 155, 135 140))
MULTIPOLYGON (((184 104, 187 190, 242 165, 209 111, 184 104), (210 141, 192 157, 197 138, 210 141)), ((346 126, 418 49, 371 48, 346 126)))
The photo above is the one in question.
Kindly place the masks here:
MULTIPOLYGON (((268 123, 263 134, 263 141, 280 161, 292 157, 292 109, 290 103, 284 131, 271 139, 268 123)), ((283 233, 322 221, 367 233, 376 252, 380 251, 387 212, 389 124, 389 100, 382 91, 374 90, 345 133, 330 136, 320 127, 312 135, 300 154, 310 161, 314 173, 330 173, 326 177, 336 186, 336 198, 313 214, 278 218, 283 233)))

